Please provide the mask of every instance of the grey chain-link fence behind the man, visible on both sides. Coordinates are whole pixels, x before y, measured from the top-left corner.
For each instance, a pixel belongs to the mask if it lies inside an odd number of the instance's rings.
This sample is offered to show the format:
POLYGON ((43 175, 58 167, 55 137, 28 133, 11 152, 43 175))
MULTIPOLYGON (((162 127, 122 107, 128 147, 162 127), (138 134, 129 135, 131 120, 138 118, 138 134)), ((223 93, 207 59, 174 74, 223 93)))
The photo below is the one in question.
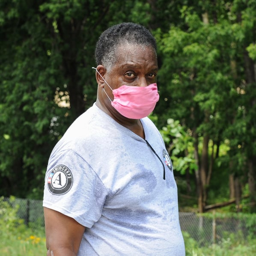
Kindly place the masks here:
MULTIPOLYGON (((8 199, 7 199, 8 200, 8 199)), ((24 219, 24 223, 32 228, 44 226, 44 214, 41 200, 18 199, 12 205, 19 205, 17 215, 24 219)), ((230 234, 235 239, 246 239, 248 228, 246 217, 215 217, 214 214, 196 214, 180 212, 180 225, 182 232, 187 232, 191 238, 200 245, 218 243, 228 238, 230 234)), ((255 228, 256 234, 256 228, 255 228)))

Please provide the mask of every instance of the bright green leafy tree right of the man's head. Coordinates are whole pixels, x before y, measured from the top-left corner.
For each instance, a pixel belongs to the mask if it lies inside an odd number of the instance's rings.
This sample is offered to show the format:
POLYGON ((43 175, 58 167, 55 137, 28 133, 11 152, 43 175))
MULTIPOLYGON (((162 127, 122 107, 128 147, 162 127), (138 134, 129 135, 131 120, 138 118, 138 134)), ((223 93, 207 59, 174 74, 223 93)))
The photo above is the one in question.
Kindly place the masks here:
MULTIPOLYGON (((245 49, 255 42, 256 16, 252 1, 241 6, 242 3, 215 1, 213 6, 211 1, 199 2, 200 12, 182 6, 180 15, 187 28, 172 25, 168 33, 161 30, 157 33, 163 53, 159 72, 162 98, 157 109, 158 118, 161 115, 159 123, 163 125, 161 121, 172 117, 192 133, 200 212, 207 202, 214 163, 218 159, 220 165, 226 159, 219 158, 221 143, 230 147, 229 171, 236 177, 244 177, 244 172, 248 173, 246 163, 252 167, 252 156, 255 158, 255 150, 249 146, 255 134, 251 128, 249 135, 247 127, 255 122, 247 114, 255 113, 251 109, 255 76, 252 59, 245 49), (236 125, 239 127, 235 128, 236 125), (247 147, 250 153, 244 152, 247 147), (234 156, 237 161, 232 163, 234 156)), ((250 192, 253 195, 255 187, 250 192)))

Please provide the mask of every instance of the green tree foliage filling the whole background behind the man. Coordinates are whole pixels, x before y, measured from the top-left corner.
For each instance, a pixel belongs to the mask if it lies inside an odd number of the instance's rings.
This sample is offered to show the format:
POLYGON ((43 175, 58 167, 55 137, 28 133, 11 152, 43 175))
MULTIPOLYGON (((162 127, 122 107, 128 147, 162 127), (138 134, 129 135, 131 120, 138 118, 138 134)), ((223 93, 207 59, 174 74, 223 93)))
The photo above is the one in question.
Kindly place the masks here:
POLYGON ((98 36, 122 21, 157 39, 151 118, 175 170, 200 169, 194 145, 200 158, 208 136, 211 201, 228 198, 229 173, 245 188, 256 155, 255 17, 253 0, 0 1, 0 194, 42 198, 52 148, 95 101, 98 36))

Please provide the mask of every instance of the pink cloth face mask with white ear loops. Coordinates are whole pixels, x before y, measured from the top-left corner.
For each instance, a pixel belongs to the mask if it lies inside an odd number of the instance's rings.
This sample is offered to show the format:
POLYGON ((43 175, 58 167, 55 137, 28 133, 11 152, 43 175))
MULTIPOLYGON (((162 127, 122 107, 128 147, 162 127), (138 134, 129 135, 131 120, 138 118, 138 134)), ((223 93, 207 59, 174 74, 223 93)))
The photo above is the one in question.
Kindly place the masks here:
MULTIPOLYGON (((98 70, 95 68, 98 72, 98 70)), ((101 74, 98 72, 101 76, 101 74)), ((112 89, 106 80, 101 76, 105 83, 112 90, 114 100, 111 105, 122 115, 130 119, 140 119, 148 116, 155 108, 159 100, 158 88, 156 83, 149 86, 127 86, 122 85, 117 89, 112 89)))

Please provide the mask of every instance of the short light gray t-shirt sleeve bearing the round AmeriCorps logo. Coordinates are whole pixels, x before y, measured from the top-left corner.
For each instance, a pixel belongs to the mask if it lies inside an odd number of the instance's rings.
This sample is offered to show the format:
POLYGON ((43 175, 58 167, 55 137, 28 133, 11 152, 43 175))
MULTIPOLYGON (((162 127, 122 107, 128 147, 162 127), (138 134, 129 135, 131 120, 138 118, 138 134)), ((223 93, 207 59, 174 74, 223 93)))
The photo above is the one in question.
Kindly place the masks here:
POLYGON ((89 164, 73 150, 49 159, 43 206, 74 218, 91 228, 101 217, 107 196, 103 183, 89 164))

